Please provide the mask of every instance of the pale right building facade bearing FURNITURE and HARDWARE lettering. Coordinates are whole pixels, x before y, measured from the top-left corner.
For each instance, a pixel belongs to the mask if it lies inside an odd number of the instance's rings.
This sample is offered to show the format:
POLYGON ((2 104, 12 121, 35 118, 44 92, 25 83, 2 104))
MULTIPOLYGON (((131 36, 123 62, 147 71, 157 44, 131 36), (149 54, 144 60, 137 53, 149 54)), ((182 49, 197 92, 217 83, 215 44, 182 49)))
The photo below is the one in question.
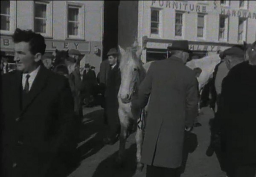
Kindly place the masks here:
MULTIPOLYGON (((129 6, 128 2, 120 2, 120 7, 124 6, 133 7, 130 13, 137 13, 137 20, 131 17, 122 23, 121 18, 120 23, 137 26, 137 31, 130 31, 127 39, 127 30, 122 31, 127 27, 120 27, 119 43, 131 41, 132 37, 141 44, 142 37, 148 36, 143 62, 167 57, 166 48, 174 40, 188 40, 191 57, 216 54, 243 41, 256 40, 254 0, 151 0, 130 2, 129 6)), ((124 13, 119 11, 120 17, 126 17, 124 13)), ((129 45, 131 42, 125 44, 129 45)))

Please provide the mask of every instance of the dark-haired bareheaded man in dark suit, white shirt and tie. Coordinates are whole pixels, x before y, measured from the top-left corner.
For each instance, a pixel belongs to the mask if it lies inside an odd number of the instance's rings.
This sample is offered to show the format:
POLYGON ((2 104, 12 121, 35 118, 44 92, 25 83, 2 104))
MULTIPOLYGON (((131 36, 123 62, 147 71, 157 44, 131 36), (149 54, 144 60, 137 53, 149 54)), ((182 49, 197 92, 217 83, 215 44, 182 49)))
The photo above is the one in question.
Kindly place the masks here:
POLYGON ((68 80, 44 67, 41 34, 16 29, 13 41, 17 70, 3 75, 2 84, 1 176, 59 176, 55 164, 64 160, 73 128, 68 80))

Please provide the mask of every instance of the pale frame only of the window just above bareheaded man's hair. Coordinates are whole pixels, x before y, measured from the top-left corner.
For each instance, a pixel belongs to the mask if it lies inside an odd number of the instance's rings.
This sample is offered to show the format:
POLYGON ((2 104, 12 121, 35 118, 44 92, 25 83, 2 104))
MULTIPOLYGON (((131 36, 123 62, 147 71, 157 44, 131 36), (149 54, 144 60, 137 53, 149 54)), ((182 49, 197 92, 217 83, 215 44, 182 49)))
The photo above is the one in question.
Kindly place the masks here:
POLYGON ((33 0, 32 1, 32 29, 36 33, 41 34, 44 37, 52 38, 52 22, 53 22, 53 1, 52 0, 33 0), (46 4, 46 32, 41 33, 35 31, 35 3, 46 4))

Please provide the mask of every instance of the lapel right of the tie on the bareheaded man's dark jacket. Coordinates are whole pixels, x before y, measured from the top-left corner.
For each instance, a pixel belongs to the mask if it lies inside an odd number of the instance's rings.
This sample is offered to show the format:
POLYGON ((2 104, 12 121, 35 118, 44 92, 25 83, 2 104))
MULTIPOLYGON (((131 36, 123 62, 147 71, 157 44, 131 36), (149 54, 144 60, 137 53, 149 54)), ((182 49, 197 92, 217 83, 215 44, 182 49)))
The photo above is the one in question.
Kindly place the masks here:
POLYGON ((48 74, 49 72, 47 71, 47 69, 43 65, 41 65, 29 91, 29 94, 27 95, 27 102, 25 105, 23 105, 23 110, 21 111, 20 115, 23 114, 24 111, 26 111, 26 109, 33 102, 33 100, 35 100, 35 98, 38 96, 38 94, 40 94, 42 89, 44 89, 44 87, 46 86, 47 78, 49 76, 48 74))

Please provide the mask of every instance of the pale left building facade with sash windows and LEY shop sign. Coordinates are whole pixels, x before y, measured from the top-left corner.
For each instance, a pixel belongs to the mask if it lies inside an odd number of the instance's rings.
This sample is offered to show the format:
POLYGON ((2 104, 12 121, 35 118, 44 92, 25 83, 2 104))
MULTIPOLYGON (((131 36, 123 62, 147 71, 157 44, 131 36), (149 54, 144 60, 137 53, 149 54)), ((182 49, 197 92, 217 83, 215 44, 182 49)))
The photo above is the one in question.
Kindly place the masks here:
POLYGON ((32 29, 46 40, 46 52, 78 49, 99 71, 102 61, 103 1, 1 1, 1 56, 13 58, 12 34, 32 29))

